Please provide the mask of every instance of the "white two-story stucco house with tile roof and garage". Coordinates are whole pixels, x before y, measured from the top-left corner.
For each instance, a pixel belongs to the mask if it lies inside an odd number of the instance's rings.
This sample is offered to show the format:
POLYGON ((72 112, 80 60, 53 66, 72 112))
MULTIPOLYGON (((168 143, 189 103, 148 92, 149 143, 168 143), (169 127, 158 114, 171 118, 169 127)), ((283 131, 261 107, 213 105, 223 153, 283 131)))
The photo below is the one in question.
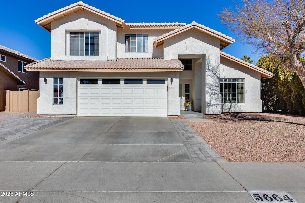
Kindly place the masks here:
POLYGON ((40 71, 38 114, 180 115, 193 110, 261 112, 267 72, 221 50, 235 40, 196 22, 125 23, 77 2, 35 21, 51 32, 51 58, 40 71))

